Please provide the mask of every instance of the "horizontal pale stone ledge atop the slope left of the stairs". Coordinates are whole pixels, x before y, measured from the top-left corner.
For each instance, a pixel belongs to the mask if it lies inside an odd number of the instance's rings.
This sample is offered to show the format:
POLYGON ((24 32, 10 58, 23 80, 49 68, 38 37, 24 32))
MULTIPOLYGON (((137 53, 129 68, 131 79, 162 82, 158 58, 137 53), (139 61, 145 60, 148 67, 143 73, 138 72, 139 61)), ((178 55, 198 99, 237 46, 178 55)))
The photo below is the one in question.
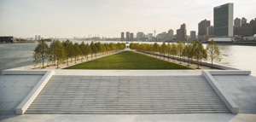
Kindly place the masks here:
POLYGON ((24 74, 24 75, 27 75, 27 74, 34 74, 34 75, 37 75, 37 74, 41 74, 41 75, 44 75, 45 73, 47 73, 48 71, 45 71, 45 70, 3 70, 2 71, 2 74, 3 75, 14 75, 14 74, 24 74))

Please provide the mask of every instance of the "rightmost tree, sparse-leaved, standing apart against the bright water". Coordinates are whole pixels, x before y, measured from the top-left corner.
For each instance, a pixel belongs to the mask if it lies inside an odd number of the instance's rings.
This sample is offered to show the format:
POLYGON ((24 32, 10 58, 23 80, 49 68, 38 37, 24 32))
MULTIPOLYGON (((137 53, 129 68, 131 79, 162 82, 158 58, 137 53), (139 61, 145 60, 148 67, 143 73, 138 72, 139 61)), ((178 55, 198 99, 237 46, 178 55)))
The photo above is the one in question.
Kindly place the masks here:
POLYGON ((213 39, 209 42, 209 44, 207 44, 207 54, 209 55, 209 60, 212 61, 212 64, 213 61, 220 61, 218 45, 213 41, 213 39))

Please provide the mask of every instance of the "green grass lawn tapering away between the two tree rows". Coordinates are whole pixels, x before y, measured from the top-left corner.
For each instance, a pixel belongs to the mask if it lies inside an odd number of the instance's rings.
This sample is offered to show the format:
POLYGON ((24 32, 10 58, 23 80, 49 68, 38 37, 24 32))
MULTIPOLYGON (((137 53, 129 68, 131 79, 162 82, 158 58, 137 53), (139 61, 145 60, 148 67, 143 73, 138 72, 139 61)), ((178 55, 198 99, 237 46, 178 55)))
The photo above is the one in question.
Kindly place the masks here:
POLYGON ((147 55, 124 51, 65 69, 191 69, 147 55))

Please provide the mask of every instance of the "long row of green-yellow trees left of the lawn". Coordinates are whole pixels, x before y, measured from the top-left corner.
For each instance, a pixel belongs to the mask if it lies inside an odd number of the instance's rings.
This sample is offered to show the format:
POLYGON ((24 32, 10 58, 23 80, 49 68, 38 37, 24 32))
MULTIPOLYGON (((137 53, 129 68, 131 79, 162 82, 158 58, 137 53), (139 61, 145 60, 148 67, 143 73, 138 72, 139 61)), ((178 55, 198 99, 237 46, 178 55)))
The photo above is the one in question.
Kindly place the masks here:
POLYGON ((54 40, 48 46, 44 40, 40 40, 38 41, 38 46, 34 50, 33 58, 37 64, 42 63, 43 68, 45 61, 49 61, 53 65, 56 63, 58 68, 60 63, 67 62, 68 66, 68 61, 75 61, 76 63, 76 61, 79 59, 81 59, 81 61, 84 58, 88 60, 89 56, 92 58, 93 55, 107 55, 113 51, 125 49, 125 47, 125 44, 119 43, 101 44, 100 42, 91 42, 90 44, 84 44, 83 41, 81 44, 73 44, 73 42, 69 40, 62 42, 59 40, 54 40))

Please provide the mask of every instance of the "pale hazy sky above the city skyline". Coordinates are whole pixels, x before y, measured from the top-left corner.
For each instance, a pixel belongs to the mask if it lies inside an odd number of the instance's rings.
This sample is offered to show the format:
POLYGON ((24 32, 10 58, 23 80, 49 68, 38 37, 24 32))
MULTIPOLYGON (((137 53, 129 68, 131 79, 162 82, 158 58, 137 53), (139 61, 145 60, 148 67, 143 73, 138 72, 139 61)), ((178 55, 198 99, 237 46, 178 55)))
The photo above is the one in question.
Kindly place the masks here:
POLYGON ((234 3, 234 19, 256 18, 256 0, 0 0, 0 36, 120 38, 120 32, 176 34, 183 23, 189 35, 201 20, 213 25, 213 8, 224 3, 234 3))

